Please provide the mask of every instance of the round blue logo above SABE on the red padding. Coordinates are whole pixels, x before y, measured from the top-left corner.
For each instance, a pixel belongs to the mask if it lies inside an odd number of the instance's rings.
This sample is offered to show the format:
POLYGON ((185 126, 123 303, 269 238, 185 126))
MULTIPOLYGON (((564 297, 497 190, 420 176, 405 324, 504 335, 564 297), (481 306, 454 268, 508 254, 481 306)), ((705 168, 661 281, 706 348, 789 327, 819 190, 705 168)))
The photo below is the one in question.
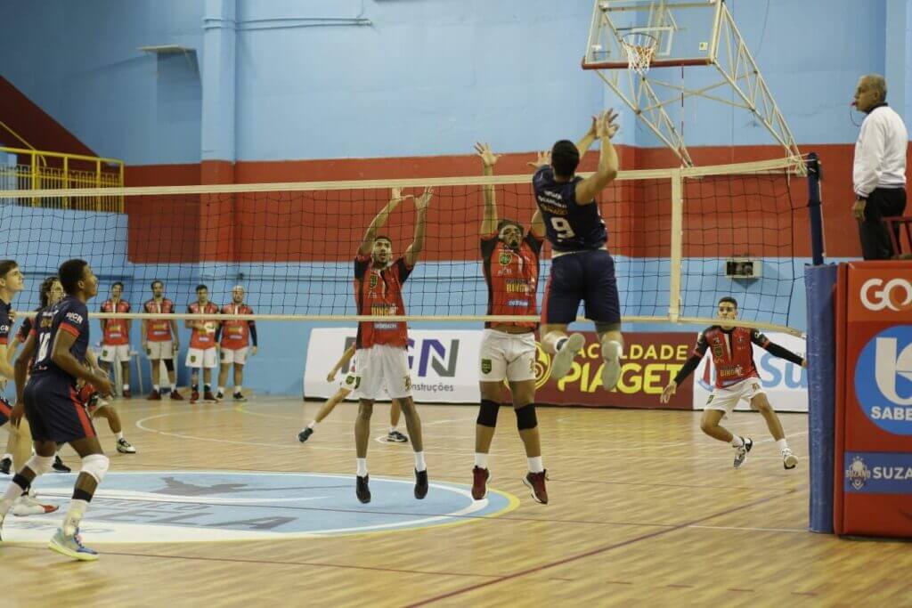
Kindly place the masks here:
POLYGON ((912 326, 877 334, 855 364, 855 397, 865 415, 895 435, 912 435, 912 326))

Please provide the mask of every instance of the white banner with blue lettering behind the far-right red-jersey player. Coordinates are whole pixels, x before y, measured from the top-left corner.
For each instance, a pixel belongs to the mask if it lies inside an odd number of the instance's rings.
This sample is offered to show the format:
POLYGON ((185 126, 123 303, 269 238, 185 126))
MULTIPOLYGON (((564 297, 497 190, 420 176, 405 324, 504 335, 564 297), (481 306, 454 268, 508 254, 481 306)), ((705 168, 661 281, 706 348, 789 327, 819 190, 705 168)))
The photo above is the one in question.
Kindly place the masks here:
MULTIPOLYGON (((770 341, 803 356, 806 346, 802 338, 788 334, 766 334, 770 341)), ((697 335, 694 335, 694 343, 697 335)), ((772 356, 760 346, 753 346, 753 361, 760 372, 760 380, 772 408, 780 412, 807 412, 807 376, 801 366, 772 356)), ((716 382, 716 370, 710 364, 710 356, 703 357, 694 371, 693 408, 702 409, 710 397, 716 382), (708 369, 709 367, 709 369, 708 369)), ((738 410, 750 410, 745 401, 738 404, 738 410)))

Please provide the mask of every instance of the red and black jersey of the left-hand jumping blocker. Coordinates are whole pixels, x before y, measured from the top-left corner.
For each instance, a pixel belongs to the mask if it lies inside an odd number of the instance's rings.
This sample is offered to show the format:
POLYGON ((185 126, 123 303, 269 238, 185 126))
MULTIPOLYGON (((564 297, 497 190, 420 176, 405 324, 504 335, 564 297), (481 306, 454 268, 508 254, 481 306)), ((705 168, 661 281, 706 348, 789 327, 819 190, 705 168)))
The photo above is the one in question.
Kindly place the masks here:
MULTIPOLYGON (((358 314, 405 314, 402 284, 413 269, 413 266, 405 263, 404 257, 386 268, 377 268, 371 263, 369 254, 358 255, 355 258, 355 304, 358 305, 358 314)), ((409 345, 408 330, 402 321, 362 321, 358 323, 355 344, 357 348, 370 348, 373 345, 406 348, 409 345)))

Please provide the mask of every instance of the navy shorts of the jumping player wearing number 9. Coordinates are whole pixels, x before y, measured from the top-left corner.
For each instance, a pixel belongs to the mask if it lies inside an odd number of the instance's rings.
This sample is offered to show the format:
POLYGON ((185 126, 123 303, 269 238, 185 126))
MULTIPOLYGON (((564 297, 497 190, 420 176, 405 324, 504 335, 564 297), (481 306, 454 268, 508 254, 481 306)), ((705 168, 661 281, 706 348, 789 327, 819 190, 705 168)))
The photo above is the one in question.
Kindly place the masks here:
POLYGON ((621 322, 615 261, 604 249, 565 253, 554 258, 544 287, 542 324, 573 323, 580 302, 586 304, 587 319, 599 323, 621 322))

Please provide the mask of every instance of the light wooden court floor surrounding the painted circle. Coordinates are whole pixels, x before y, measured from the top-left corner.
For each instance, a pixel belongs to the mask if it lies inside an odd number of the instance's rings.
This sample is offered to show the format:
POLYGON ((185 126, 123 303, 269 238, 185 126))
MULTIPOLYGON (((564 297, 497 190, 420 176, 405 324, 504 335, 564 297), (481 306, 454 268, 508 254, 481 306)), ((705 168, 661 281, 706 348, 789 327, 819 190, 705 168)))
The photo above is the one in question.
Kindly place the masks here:
MULTIPOLYGON (((243 407, 118 402, 127 437, 139 449, 133 456, 114 451, 103 420, 98 427, 111 473, 353 475, 353 405, 338 407, 306 444, 298 443, 297 430, 318 405, 275 398, 243 407)), ((375 409, 375 436, 384 432, 387 411, 375 409)), ((431 481, 471 485, 475 408, 423 406, 420 413, 431 481)), ((542 407, 539 420, 548 505, 536 504, 520 481, 522 447, 513 414, 502 408, 491 487, 518 498, 513 510, 466 516, 461 525, 291 540, 99 545, 87 534, 86 544, 101 552, 94 563, 68 562, 44 543, 5 541, 0 603, 912 606, 912 544, 805 531, 803 415, 782 416, 801 458, 793 471, 782 469, 757 414, 736 413, 731 421, 756 442, 740 470, 731 469, 731 448, 700 433, 698 413, 542 407)), ((77 463, 69 448, 63 454, 77 463)), ((409 445, 372 441, 368 464, 372 479, 412 477, 409 445)), ((358 503, 353 478, 341 481, 339 504, 309 516, 385 516, 379 504, 358 503)), ((371 485, 376 499, 379 489, 371 485)))

